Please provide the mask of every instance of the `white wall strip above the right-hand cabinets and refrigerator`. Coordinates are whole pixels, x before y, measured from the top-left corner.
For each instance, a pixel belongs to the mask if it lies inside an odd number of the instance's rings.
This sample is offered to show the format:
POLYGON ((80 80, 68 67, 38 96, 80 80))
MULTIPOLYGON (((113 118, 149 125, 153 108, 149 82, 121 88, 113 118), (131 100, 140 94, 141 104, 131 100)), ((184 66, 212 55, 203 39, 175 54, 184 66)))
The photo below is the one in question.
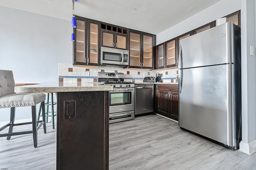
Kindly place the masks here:
MULTIPOLYGON (((221 0, 179 24, 156 35, 156 45, 241 9, 240 0, 221 0)), ((175 16, 173 16, 175 17, 175 16)))

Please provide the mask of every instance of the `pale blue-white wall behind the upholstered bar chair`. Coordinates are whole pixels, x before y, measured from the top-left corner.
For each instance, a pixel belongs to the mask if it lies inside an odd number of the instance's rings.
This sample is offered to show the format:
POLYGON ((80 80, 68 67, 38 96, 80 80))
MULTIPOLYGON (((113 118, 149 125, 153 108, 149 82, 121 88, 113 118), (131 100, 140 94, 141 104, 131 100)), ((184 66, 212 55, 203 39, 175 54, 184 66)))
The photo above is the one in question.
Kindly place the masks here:
MULTIPOLYGON (((15 83, 57 82, 58 63, 72 63, 70 21, 0 6, 0 23, 0 69, 12 70, 15 83)), ((9 111, 0 109, 0 122, 9 111)), ((16 112, 31 117, 29 107, 16 112)))

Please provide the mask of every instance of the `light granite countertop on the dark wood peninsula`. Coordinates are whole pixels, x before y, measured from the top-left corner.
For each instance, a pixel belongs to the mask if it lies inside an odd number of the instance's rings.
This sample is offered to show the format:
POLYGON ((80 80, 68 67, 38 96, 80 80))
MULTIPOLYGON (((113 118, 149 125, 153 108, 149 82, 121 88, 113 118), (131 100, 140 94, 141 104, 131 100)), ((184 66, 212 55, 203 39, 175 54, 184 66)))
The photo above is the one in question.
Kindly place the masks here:
POLYGON ((14 88, 16 93, 55 93, 55 92, 76 92, 76 91, 110 91, 112 86, 100 86, 98 83, 48 83, 37 85, 25 85, 14 88))

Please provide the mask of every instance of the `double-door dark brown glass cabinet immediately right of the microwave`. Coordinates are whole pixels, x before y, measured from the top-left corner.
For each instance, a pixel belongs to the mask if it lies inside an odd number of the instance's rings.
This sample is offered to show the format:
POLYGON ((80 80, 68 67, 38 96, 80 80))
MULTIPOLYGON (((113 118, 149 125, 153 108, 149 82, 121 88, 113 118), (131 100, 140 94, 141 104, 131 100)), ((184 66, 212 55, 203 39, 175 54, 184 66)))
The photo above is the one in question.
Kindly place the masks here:
POLYGON ((129 30, 129 67, 153 69, 153 47, 155 45, 155 35, 129 30))

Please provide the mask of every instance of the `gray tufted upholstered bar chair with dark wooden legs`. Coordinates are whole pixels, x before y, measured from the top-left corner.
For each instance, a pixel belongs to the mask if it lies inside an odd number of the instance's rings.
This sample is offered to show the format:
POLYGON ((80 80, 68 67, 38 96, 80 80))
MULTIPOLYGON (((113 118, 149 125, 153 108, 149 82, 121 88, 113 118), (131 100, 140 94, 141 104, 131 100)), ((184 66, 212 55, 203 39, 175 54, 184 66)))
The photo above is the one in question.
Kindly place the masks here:
POLYGON ((20 134, 33 133, 34 147, 37 147, 37 130, 43 125, 44 133, 46 133, 45 124, 45 108, 44 108, 44 93, 15 93, 14 92, 14 78, 10 70, 0 70, 0 109, 10 108, 10 123, 0 127, 0 131, 9 127, 8 133, 0 134, 0 137, 7 136, 10 140, 11 136, 20 134), (36 121, 36 104, 42 104, 42 121, 36 121), (15 108, 16 107, 32 107, 32 122, 14 124, 15 108), (37 127, 37 123, 40 123, 37 127), (32 124, 32 130, 22 132, 12 132, 14 126, 32 124))

